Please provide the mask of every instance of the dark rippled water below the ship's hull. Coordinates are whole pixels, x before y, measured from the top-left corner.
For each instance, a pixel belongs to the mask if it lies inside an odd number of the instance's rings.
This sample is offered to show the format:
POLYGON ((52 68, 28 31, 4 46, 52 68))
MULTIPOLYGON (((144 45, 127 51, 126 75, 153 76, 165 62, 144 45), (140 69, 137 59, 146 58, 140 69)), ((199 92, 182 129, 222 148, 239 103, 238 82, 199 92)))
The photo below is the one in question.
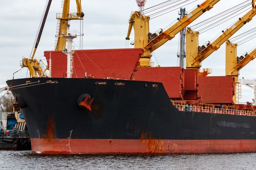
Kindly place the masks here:
POLYGON ((131 156, 0 151, 0 170, 256 170, 256 153, 131 156))

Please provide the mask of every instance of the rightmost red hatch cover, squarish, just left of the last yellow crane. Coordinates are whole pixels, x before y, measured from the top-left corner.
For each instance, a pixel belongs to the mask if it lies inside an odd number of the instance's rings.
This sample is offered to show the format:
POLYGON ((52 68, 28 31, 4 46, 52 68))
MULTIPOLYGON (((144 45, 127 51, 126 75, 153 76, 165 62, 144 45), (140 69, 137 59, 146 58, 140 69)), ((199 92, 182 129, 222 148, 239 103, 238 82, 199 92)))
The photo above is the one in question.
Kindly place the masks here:
POLYGON ((232 76, 199 77, 198 94, 203 103, 231 104, 234 96, 232 76))

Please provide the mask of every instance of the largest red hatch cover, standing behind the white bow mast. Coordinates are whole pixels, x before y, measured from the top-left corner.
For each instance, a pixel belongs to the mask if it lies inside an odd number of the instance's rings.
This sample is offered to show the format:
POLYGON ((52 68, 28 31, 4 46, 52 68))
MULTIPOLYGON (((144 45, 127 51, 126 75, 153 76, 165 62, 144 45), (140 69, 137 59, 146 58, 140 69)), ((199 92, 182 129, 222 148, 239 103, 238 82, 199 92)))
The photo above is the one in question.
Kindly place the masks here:
MULTIPOLYGON (((76 50, 74 56, 73 78, 87 76, 94 78, 131 79, 137 68, 142 49, 102 49, 76 50)), ((67 55, 62 51, 44 51, 49 64, 51 58, 51 77, 66 77, 67 55)))

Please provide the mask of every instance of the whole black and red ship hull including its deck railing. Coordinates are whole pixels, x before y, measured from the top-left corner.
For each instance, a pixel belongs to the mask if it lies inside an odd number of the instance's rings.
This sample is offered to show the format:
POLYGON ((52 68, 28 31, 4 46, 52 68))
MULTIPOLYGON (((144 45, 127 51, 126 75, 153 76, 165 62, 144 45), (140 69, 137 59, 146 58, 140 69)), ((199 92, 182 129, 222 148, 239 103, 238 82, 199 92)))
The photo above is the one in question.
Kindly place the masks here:
POLYGON ((36 153, 256 152, 255 112, 174 104, 162 83, 89 78, 6 83, 36 153))

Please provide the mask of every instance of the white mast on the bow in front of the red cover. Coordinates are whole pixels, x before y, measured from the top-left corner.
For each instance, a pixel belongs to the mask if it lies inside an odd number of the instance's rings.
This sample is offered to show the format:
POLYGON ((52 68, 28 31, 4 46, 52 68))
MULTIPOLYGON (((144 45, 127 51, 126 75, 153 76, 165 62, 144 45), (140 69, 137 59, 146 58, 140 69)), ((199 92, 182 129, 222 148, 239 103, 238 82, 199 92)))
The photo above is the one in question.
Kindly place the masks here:
POLYGON ((83 34, 77 34, 76 30, 69 30, 69 25, 67 25, 66 30, 62 30, 61 35, 57 35, 59 37, 65 38, 67 41, 67 47, 62 50, 63 53, 67 55, 67 76, 66 78, 71 78, 73 74, 74 61, 73 55, 75 52, 74 46, 72 46, 73 39, 78 36, 82 36, 83 34))

